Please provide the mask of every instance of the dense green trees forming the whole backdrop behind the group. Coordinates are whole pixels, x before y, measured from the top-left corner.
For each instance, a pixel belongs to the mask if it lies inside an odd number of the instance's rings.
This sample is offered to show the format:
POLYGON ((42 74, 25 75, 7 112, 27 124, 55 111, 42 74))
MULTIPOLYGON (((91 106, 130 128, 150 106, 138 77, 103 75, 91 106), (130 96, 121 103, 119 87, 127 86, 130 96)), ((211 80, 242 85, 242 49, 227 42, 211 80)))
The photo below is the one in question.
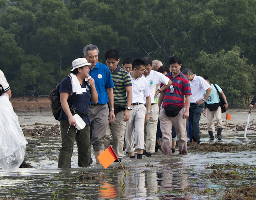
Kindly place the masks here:
POLYGON ((99 61, 110 48, 121 62, 148 56, 168 66, 176 55, 244 105, 255 87, 255 24, 256 0, 0 0, 0 69, 13 96, 42 95, 88 44, 99 61))

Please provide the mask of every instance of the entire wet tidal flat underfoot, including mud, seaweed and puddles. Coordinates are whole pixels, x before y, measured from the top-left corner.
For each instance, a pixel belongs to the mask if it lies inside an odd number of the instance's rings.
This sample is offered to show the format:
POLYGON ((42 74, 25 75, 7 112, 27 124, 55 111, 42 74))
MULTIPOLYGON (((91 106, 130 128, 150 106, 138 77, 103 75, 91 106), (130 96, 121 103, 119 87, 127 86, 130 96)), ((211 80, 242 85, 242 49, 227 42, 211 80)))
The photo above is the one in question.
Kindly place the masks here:
POLYGON ((58 169, 59 122, 49 110, 16 111, 28 140, 26 162, 34 168, 12 173, 0 169, 0 199, 10 193, 17 199, 256 199, 256 112, 252 110, 244 138, 247 113, 248 109, 229 109, 222 114, 223 139, 212 142, 202 116, 201 145, 189 145, 187 155, 179 155, 178 147, 173 155, 159 151, 142 160, 125 154, 125 177, 119 163, 107 169, 95 165, 93 153, 94 163, 78 168, 76 144, 72 168, 58 169), (227 130, 226 114, 231 114, 227 130))

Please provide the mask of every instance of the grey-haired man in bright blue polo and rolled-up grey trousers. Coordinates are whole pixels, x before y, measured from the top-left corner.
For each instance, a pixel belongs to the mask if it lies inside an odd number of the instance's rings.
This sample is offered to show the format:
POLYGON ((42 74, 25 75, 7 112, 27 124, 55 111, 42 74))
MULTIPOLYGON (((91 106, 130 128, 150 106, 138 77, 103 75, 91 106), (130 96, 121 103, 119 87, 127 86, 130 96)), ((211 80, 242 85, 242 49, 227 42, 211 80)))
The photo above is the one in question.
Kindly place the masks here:
POLYGON ((108 67, 98 63, 99 50, 96 45, 87 45, 84 47, 84 58, 91 63, 89 75, 95 80, 96 90, 98 92, 98 103, 89 104, 89 116, 91 120, 90 136, 93 145, 96 164, 100 164, 98 156, 104 151, 104 138, 108 123, 115 119, 114 114, 114 93, 113 81, 108 67), (108 110, 107 102, 110 105, 108 110), (109 121, 108 121, 109 116, 109 121))

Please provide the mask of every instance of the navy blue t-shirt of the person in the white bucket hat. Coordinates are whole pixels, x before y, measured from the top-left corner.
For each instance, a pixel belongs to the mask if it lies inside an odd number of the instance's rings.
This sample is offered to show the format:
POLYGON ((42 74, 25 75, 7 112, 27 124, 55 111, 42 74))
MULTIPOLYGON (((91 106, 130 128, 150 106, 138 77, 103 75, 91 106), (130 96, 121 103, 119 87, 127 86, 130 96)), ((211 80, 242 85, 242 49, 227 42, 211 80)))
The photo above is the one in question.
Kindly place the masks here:
MULTIPOLYGON (((62 83, 60 84, 60 92, 68 92, 70 94, 72 84, 70 82, 70 78, 66 77, 63 79, 62 83)), ((81 113, 88 113, 88 107, 89 102, 91 98, 91 91, 89 86, 86 84, 86 81, 84 80, 82 88, 86 88, 86 92, 83 92, 83 94, 76 94, 73 93, 71 96, 71 105, 74 106, 74 110, 81 112, 81 113)), ((87 114, 86 116, 83 116, 82 119, 86 123, 86 125, 90 125, 90 118, 87 114)), ((68 120, 68 116, 66 113, 61 110, 59 120, 68 120)))

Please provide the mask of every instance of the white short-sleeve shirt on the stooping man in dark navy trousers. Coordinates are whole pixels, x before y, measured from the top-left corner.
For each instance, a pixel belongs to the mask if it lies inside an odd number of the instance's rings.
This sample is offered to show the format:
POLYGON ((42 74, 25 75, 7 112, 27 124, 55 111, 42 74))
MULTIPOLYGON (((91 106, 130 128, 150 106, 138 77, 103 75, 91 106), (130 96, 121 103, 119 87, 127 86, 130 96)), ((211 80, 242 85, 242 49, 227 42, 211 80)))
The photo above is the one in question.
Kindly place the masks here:
POLYGON ((192 81, 189 81, 191 94, 190 95, 190 103, 196 103, 199 100, 204 98, 204 90, 210 88, 210 85, 202 76, 196 76, 195 74, 192 81))

